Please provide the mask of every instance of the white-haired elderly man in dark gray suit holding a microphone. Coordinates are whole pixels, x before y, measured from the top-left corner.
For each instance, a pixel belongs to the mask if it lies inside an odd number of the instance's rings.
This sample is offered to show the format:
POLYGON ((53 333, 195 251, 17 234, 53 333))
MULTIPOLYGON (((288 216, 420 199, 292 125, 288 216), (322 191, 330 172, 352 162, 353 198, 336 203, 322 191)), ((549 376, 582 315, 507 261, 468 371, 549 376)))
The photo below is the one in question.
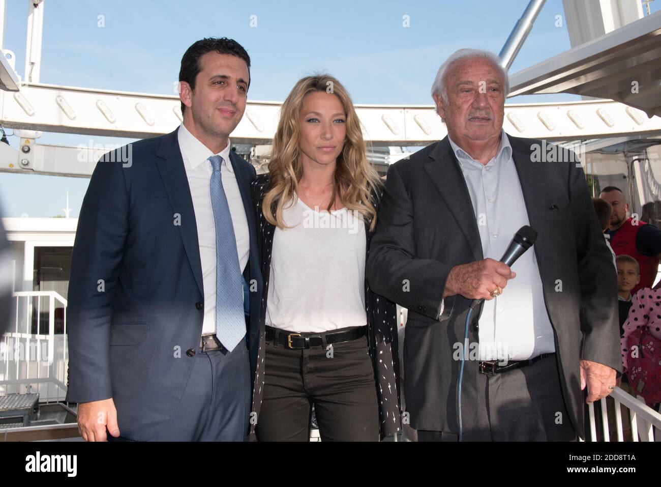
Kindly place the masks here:
POLYGON ((432 87, 447 137, 388 171, 367 272, 409 310, 419 441, 584 437, 581 391, 594 402, 621 371, 617 283, 582 167, 506 134, 507 93, 497 56, 455 52, 432 87), (536 243, 510 268, 498 259, 525 225, 536 243))

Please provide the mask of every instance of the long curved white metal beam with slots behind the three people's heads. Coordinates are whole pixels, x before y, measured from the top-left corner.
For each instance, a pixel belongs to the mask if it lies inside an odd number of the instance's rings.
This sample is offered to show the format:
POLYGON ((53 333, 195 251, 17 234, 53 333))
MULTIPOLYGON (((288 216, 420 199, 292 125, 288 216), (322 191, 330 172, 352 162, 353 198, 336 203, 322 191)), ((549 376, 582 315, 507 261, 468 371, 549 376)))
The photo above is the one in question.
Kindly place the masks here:
MULTIPOLYGON (((176 95, 149 95, 54 85, 24 85, 18 93, 0 92, 4 126, 146 138, 171 132, 180 124, 176 95)), ((419 146, 440 140, 446 126, 432 105, 356 105, 364 136, 373 144, 419 146)), ((249 101, 235 144, 270 144, 280 103, 249 101)), ((506 105, 505 130, 516 136, 574 140, 661 134, 661 118, 613 101, 506 105)), ((1 162, 1 161, 0 161, 1 162)))

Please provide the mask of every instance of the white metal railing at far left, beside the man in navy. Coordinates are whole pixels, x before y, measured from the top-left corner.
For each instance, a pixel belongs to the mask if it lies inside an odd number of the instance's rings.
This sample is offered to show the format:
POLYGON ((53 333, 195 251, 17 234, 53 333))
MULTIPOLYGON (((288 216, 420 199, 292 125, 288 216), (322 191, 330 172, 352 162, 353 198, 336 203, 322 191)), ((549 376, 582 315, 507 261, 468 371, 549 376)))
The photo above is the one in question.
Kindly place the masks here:
POLYGON ((40 402, 64 400, 69 363, 67 300, 56 291, 14 292, 13 297, 15 326, 0 341, 0 394, 38 392, 40 402), (46 300, 48 333, 40 333, 42 301, 46 300), (56 333, 58 305, 62 329, 56 333))

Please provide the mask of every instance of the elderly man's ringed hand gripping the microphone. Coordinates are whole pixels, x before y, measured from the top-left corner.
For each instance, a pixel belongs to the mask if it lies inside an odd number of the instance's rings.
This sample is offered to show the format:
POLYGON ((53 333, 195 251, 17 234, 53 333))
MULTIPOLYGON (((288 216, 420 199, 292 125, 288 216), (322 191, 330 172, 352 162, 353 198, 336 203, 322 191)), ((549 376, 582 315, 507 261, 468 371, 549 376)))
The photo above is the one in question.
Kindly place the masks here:
POLYGON ((469 299, 493 299, 491 293, 498 290, 500 294, 515 276, 508 265, 494 259, 455 265, 447 275, 443 297, 461 294, 469 299))

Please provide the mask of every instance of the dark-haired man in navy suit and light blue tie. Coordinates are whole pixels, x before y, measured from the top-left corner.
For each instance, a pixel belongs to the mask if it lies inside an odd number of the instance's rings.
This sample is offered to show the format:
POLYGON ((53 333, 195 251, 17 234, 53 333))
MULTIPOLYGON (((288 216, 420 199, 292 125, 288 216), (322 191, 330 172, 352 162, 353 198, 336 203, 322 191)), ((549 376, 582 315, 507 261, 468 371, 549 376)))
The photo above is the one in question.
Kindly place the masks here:
POLYGON ((255 171, 228 137, 250 58, 206 38, 179 81, 182 125, 106 154, 83 200, 67 400, 87 441, 247 439, 262 279, 255 171))

